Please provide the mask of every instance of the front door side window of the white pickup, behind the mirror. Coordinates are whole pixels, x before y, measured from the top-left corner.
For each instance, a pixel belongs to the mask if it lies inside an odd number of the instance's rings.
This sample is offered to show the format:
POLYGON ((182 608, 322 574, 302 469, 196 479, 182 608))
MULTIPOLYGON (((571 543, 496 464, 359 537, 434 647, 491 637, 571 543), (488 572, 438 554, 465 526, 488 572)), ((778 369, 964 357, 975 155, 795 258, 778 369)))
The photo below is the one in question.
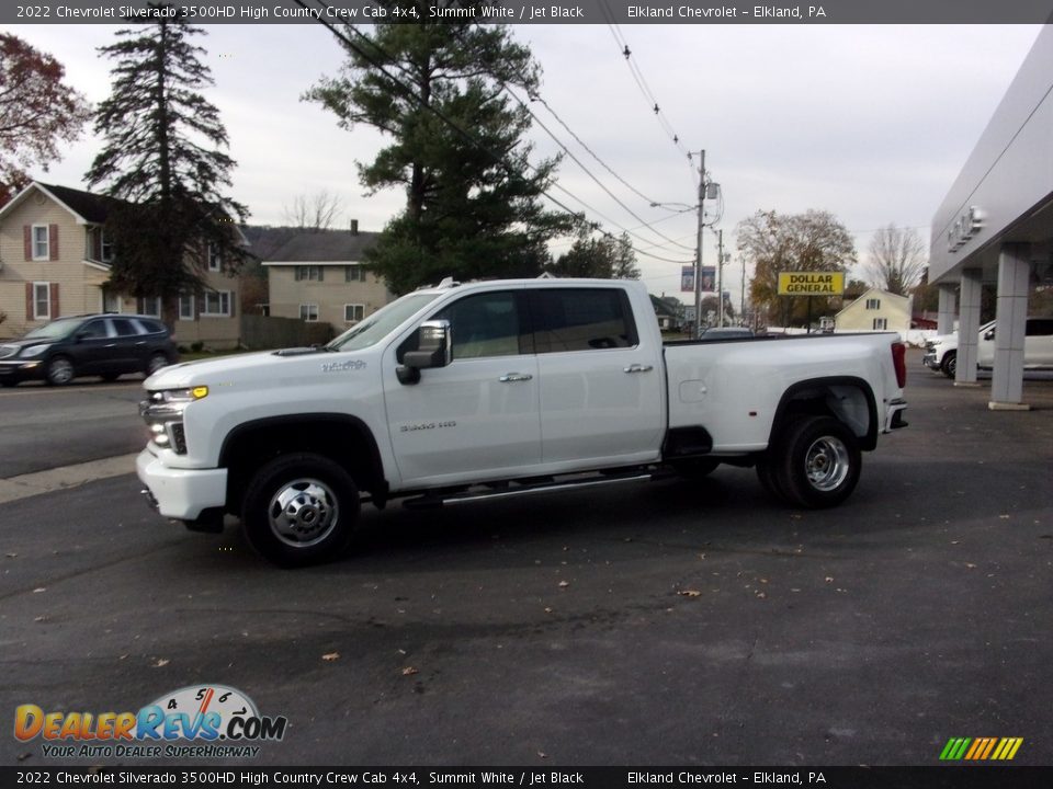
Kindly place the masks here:
POLYGON ((433 316, 450 321, 453 359, 531 353, 516 291, 467 296, 433 316))

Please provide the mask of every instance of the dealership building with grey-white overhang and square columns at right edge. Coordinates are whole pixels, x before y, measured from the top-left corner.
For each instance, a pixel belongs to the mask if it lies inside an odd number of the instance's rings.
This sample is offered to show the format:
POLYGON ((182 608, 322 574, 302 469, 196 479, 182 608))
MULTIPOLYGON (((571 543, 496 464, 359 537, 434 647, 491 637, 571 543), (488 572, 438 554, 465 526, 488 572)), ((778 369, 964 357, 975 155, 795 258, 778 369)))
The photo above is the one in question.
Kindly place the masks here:
POLYGON ((1028 293, 1053 284, 1053 24, 1042 28, 932 219, 929 282, 939 286, 941 334, 958 315, 955 382, 973 386, 981 285, 997 283, 989 407, 1027 408, 1028 293))

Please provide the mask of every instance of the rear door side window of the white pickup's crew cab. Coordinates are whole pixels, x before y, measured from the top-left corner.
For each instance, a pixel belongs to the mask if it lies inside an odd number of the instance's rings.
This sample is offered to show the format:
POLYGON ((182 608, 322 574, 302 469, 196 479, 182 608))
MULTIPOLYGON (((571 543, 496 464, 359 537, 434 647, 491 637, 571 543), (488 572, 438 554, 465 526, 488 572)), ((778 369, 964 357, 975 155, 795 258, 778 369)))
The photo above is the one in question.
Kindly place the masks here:
POLYGON ((632 347, 638 342, 622 290, 543 288, 533 299, 537 353, 632 347))

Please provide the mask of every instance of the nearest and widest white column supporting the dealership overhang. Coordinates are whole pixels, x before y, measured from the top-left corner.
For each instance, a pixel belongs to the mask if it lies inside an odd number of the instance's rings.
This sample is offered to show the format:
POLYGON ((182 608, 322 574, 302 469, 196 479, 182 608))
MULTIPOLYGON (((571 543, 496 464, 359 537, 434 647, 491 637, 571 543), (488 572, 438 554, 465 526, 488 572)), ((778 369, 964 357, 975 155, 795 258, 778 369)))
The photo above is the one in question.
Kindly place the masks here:
POLYGON ((1023 404, 1023 339, 1028 324, 1028 244, 1003 244, 998 255, 998 305, 995 312, 993 411, 1027 410, 1023 404))

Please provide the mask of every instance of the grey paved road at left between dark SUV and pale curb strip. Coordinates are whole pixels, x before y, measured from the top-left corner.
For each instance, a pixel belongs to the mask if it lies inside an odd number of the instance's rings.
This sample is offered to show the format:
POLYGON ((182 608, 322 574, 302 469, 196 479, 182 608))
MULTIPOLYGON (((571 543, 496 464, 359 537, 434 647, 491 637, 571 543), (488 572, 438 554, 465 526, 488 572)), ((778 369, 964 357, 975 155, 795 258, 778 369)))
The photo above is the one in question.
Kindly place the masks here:
POLYGON ((138 451, 143 380, 0 390, 0 479, 138 451))

